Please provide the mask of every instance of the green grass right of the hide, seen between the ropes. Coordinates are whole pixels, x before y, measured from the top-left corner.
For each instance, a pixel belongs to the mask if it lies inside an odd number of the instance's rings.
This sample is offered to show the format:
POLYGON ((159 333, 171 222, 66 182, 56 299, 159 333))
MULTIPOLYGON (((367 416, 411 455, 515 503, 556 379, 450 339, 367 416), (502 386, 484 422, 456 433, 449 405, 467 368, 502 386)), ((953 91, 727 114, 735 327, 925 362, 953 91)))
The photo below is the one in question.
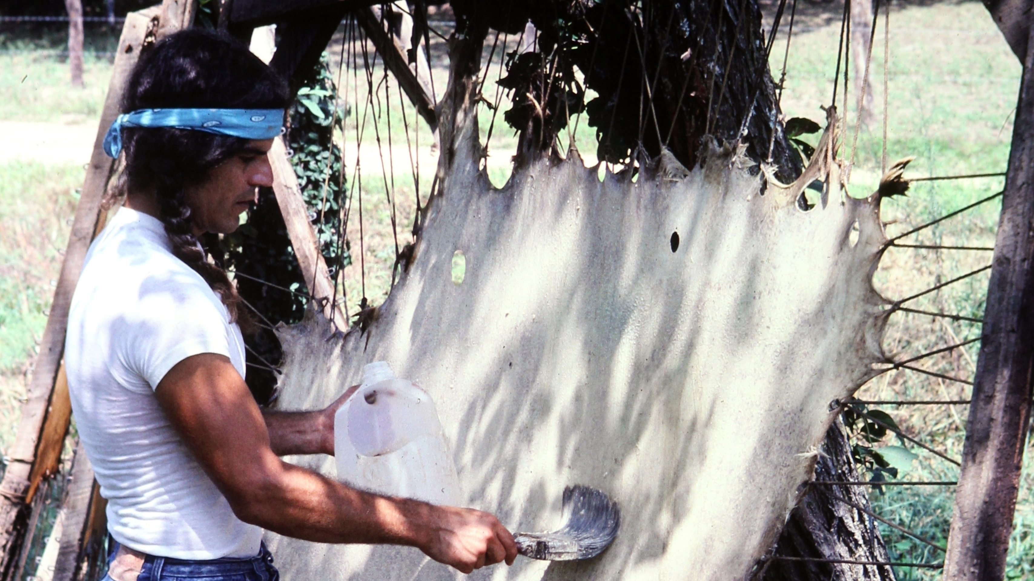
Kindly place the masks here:
MULTIPOLYGON (((843 4, 841 4, 843 6, 843 4)), ((895 3, 890 13, 890 61, 887 68, 889 162, 914 156, 906 176, 944 176, 1004 171, 1008 161, 1021 66, 986 9, 977 2, 945 2, 929 6, 895 3)), ((830 5, 829 10, 838 9, 830 5)), ((808 117, 820 123, 829 104, 835 69, 839 19, 834 24, 795 33, 787 67, 783 108, 787 117, 808 117)), ((802 21, 810 24, 808 19, 802 21)), ((883 22, 879 23, 872 61, 875 111, 861 125, 850 191, 864 196, 880 177, 883 148, 883 22)), ((785 36, 773 51, 772 69, 782 67, 785 36)), ((852 69, 852 74, 854 70, 852 69)), ((840 84, 843 91, 843 80, 840 84)), ((854 87, 849 94, 848 126, 842 157, 850 158, 856 121, 854 87)), ((843 92, 838 108, 843 111, 843 92)), ((883 219, 890 236, 902 234, 952 210, 1001 190, 1002 178, 916 183, 908 196, 886 200, 883 219)), ((984 204, 937 224, 903 242, 992 246, 1001 204, 984 204)), ((877 289, 901 299, 989 264, 989 252, 896 249, 887 251, 876 273, 877 289)), ((925 310, 981 316, 986 273, 952 284, 911 305, 925 310)), ((891 316, 884 346, 888 355, 906 359, 979 336, 980 326, 929 316, 891 316)), ((979 345, 922 360, 921 366, 948 375, 971 378, 979 345)), ((858 397, 877 400, 968 399, 969 388, 907 371, 886 373, 863 387, 858 397)), ((960 458, 968 406, 884 406, 907 433, 916 435, 948 456, 960 458)), ((918 460, 900 475, 907 480, 953 481, 957 467, 898 438, 918 460)), ((1027 464, 1028 467, 1030 464, 1027 464)), ((885 487, 871 493, 874 510, 940 546, 947 542, 954 502, 953 487, 885 487)), ((1015 529, 1008 557, 1009 579, 1034 579, 1034 478, 1021 483, 1015 529)), ((891 527, 880 525, 891 560, 941 562, 942 552, 891 527)), ((895 568, 898 579, 939 579, 939 571, 895 568)))

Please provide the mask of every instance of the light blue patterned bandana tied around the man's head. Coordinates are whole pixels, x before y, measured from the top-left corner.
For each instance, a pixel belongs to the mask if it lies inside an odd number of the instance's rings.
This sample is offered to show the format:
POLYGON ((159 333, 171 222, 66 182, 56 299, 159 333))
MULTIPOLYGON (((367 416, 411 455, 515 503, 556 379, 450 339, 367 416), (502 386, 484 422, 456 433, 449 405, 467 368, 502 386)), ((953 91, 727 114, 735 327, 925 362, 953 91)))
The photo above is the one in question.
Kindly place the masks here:
POLYGON ((174 127, 245 140, 271 140, 283 126, 282 109, 142 109, 115 119, 104 135, 104 153, 118 157, 123 127, 174 127))

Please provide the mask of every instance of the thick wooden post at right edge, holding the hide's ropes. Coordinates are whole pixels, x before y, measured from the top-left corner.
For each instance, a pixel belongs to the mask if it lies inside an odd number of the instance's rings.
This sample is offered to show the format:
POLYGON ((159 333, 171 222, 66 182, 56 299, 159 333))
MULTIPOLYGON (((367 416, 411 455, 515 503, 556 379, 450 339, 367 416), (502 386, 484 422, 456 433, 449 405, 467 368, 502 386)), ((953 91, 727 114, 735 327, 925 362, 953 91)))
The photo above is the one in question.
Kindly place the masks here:
MULTIPOLYGON (((1034 21, 1032 21, 1034 22, 1034 21)), ((1032 29, 1028 27, 1027 34, 1032 29)), ((1005 577, 1034 365, 1034 43, 1027 43, 945 581, 1005 577)))

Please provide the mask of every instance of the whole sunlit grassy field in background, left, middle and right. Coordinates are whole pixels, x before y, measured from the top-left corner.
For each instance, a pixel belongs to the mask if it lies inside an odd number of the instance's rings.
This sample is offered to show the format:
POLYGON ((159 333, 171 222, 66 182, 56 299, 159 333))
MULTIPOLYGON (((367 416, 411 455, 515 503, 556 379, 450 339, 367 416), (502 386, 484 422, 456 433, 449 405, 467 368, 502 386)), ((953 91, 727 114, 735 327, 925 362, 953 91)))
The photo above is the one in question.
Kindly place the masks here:
MULTIPOLYGON (((841 7, 842 4, 837 3, 817 5, 809 2, 801 2, 798 7, 783 96, 783 109, 788 117, 808 117, 820 122, 824 119, 820 105, 829 104, 832 92, 841 7)), ((435 26, 448 34, 446 27, 435 26)), ((889 160, 915 156, 906 173, 910 177, 1004 171, 1021 68, 983 6, 979 2, 895 3, 889 29, 890 59, 886 70, 889 160)), ((362 67, 362 55, 349 53, 348 47, 341 52, 344 37, 339 34, 337 43, 330 50, 335 74, 342 54, 346 63, 358 62, 362 67)), ((107 38, 97 40, 95 45, 110 47, 113 39, 107 38)), ((783 64, 785 38, 780 35, 772 55, 777 77, 783 64)), ((0 35, 0 49, 20 47, 7 53, 0 51, 0 122, 95 123, 111 70, 108 57, 88 58, 87 88, 75 92, 65 85, 65 64, 54 54, 59 43, 54 38, 44 40, 26 43, 0 35), (29 49, 35 52, 24 52, 29 49)), ((486 62, 492 40, 490 37, 489 47, 485 49, 486 62)), ((489 101, 494 102, 497 95, 494 79, 501 45, 513 50, 516 41, 513 37, 500 37, 499 47, 492 55, 493 68, 483 89, 489 101)), ((868 124, 862 124, 857 136, 850 186, 852 195, 866 195, 873 191, 880 176, 883 43, 881 22, 871 73, 874 115, 868 124)), ((432 60, 444 62, 440 59, 444 44, 436 41, 433 48, 432 60)), ((344 269, 342 281, 348 310, 354 313, 362 297, 378 304, 387 296, 395 240, 397 238, 399 246, 412 240, 409 231, 417 197, 427 198, 436 153, 431 148, 432 135, 416 122, 412 108, 406 109, 407 123, 403 124, 397 109, 400 100, 397 87, 390 80, 379 82, 383 69, 374 67, 370 83, 362 77, 362 69, 354 74, 346 64, 340 70, 339 92, 346 110, 344 149, 351 195, 347 233, 355 256, 354 264, 344 269), (371 85, 374 95, 368 98, 371 85), (390 122, 386 115, 373 115, 386 103, 396 108, 392 110, 390 122), (362 135, 362 143, 357 147, 358 135, 362 135), (419 179, 410 159, 419 161, 419 179), (420 187, 416 188, 415 184, 420 187)), ((440 95, 447 71, 436 67, 433 75, 435 92, 440 95)), ((842 90, 843 86, 842 83, 842 90)), ((848 94, 848 125, 852 131, 856 98, 853 91, 852 88, 848 94)), ((838 105, 843 109, 840 99, 838 105)), ((515 145, 512 130, 500 119, 508 106, 504 96, 494 119, 486 160, 488 174, 496 185, 505 183, 509 176, 508 156, 515 145)), ((492 125, 493 112, 482 106, 479 119, 484 136, 492 125)), ((579 124, 578 134, 573 139, 583 155, 591 160, 585 155, 595 149, 591 128, 579 124)), ((845 135, 843 157, 851 158, 853 139, 851 132, 845 135)), ((52 280, 56 278, 60 249, 67 235, 67 220, 73 210, 74 188, 79 187, 82 177, 82 169, 74 166, 0 161, 0 451, 12 437, 14 406, 23 397, 25 373, 42 331, 53 292, 52 280)), ((884 202, 882 213, 887 232, 891 236, 905 233, 986 197, 999 191, 1002 184, 1001 178, 916 183, 908 196, 884 202)), ((991 246, 999 208, 999 203, 993 201, 902 242, 991 246)), ((989 263, 990 253, 985 251, 891 248, 876 274, 875 283, 888 299, 902 299, 989 263)), ((979 318, 986 280, 986 273, 971 277, 923 296, 910 306, 979 318)), ((890 319, 885 348, 888 355, 907 359, 978 335, 977 324, 898 313, 890 319)), ((924 359, 920 364, 935 372, 970 379, 977 349, 978 343, 971 343, 924 359)), ((858 397, 866 400, 968 399, 969 389, 962 384, 898 370, 871 381, 858 397)), ((880 408, 905 432, 950 458, 961 456, 968 406, 885 405, 880 408)), ((911 442, 887 438, 884 445, 904 446, 917 456, 915 461, 901 466, 900 478, 954 480, 957 476, 957 468, 950 462, 911 442)), ((944 545, 953 501, 952 488, 886 487, 871 496, 880 514, 944 545)), ((943 558, 936 549, 888 527, 883 527, 883 532, 895 559, 939 562, 943 558)), ((1027 470, 1021 486, 1009 553, 1009 579, 1034 579, 1034 557, 1030 555, 1034 555, 1034 475, 1027 470)), ((932 579, 939 574, 901 568, 898 576, 902 580, 932 579)))

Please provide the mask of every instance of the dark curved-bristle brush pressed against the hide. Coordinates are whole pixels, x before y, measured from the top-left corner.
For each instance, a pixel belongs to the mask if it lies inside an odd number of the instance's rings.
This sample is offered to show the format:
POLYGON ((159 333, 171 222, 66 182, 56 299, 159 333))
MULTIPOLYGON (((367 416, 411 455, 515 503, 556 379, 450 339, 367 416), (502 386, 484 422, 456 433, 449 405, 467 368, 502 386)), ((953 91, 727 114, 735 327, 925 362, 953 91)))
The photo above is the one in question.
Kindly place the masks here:
POLYGON ((592 558, 617 537, 620 511, 602 491, 588 486, 564 489, 560 528, 554 532, 518 532, 517 552, 540 560, 592 558))

